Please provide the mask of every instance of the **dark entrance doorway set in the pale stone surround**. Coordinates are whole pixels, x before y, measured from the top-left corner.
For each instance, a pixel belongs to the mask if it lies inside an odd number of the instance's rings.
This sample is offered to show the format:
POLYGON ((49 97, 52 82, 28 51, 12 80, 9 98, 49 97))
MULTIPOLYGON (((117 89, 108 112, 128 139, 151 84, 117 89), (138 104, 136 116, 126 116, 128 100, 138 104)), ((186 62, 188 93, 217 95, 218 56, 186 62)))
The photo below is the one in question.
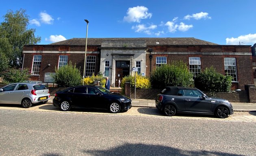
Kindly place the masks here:
POLYGON ((115 87, 118 87, 118 80, 130 75, 130 61, 115 61, 115 87))

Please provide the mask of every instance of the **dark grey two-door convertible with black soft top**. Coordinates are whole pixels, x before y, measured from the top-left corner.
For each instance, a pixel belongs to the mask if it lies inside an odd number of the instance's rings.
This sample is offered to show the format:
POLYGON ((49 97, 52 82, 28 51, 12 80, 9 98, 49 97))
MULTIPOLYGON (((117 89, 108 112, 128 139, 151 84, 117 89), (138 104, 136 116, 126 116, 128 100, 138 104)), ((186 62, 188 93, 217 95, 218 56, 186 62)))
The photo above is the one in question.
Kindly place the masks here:
POLYGON ((189 87, 165 87, 157 95, 156 108, 167 116, 194 113, 226 118, 234 113, 227 100, 210 98, 199 89, 189 87))

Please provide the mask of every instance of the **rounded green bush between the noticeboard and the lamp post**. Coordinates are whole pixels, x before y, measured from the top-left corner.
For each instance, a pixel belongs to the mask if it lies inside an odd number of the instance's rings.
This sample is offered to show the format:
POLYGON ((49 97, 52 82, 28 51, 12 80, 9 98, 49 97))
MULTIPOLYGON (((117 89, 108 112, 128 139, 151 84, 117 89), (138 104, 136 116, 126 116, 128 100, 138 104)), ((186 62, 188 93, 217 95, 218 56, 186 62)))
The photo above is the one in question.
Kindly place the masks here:
POLYGON ((76 64, 73 66, 71 62, 67 65, 57 69, 55 67, 55 76, 54 80, 59 87, 72 87, 81 85, 81 74, 80 69, 76 68, 76 64))

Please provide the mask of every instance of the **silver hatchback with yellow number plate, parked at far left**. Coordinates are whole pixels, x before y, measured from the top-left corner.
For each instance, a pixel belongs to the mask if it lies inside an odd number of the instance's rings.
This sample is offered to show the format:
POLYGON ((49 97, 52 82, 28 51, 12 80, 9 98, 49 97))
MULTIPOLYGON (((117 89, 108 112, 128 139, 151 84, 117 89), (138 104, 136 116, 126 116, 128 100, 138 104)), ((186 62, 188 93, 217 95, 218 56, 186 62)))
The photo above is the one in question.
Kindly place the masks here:
POLYGON ((0 104, 21 104, 29 108, 32 104, 46 103, 49 98, 49 89, 41 83, 12 83, 0 89, 0 104))

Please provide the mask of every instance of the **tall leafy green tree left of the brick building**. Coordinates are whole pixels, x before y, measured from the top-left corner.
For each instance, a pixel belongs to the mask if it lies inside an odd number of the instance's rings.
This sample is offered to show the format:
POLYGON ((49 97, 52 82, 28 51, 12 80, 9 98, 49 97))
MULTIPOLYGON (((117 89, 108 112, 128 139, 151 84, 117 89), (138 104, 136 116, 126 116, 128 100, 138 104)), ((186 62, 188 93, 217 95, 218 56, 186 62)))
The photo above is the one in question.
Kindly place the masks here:
POLYGON ((11 10, 3 16, 0 24, 0 59, 6 63, 0 63, 1 69, 9 67, 19 68, 22 65, 22 51, 25 44, 37 44, 41 37, 35 37, 35 29, 28 29, 29 16, 26 10, 16 12, 11 10))

